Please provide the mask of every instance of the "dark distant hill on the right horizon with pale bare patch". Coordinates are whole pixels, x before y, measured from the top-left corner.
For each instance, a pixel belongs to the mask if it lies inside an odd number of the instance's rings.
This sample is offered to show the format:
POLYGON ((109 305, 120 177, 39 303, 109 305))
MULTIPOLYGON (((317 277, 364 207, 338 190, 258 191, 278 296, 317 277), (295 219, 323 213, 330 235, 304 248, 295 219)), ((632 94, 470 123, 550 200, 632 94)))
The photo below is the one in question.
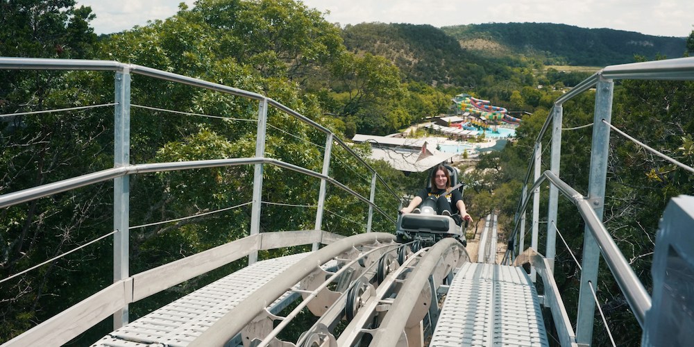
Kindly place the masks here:
POLYGON ((653 60, 658 54, 680 58, 686 37, 643 35, 607 28, 589 29, 549 23, 491 23, 446 26, 441 30, 465 49, 484 56, 524 55, 545 65, 607 65, 653 60))

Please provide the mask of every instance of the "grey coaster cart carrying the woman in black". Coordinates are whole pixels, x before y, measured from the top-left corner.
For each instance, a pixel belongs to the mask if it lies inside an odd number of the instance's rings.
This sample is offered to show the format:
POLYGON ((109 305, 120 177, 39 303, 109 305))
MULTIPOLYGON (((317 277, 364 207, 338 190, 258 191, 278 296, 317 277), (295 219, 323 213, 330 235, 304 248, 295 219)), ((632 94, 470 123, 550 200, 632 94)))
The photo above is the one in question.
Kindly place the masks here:
MULTIPOLYGON (((457 170, 448 165, 444 165, 444 167, 448 169, 453 189, 459 189, 462 194, 464 185, 457 183, 457 170)), ((432 170, 427 180, 428 188, 431 186, 431 176, 433 174, 432 170)), ((428 202, 424 201, 422 203, 419 213, 398 214, 397 241, 403 244, 414 242, 413 245, 419 248, 432 246, 444 237, 453 237, 462 243, 463 246, 467 246, 465 230, 468 226, 468 221, 462 223, 463 221, 459 214, 453 214, 452 216, 437 214, 436 207, 429 205, 428 202)), ((400 208, 402 208, 402 205, 400 205, 400 208)))

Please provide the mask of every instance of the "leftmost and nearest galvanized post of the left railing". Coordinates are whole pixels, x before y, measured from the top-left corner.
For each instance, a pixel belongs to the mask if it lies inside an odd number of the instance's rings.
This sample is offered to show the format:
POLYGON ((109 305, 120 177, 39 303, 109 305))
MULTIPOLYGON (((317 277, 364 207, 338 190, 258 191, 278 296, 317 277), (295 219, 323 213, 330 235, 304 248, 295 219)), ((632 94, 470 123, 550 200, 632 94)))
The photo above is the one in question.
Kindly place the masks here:
MULTIPOLYGON (((113 121, 113 166, 130 164, 130 70, 115 74, 115 110, 113 121)), ((130 276, 130 176, 113 180, 113 282, 130 276)), ((113 314, 113 328, 128 323, 128 305, 113 314)))

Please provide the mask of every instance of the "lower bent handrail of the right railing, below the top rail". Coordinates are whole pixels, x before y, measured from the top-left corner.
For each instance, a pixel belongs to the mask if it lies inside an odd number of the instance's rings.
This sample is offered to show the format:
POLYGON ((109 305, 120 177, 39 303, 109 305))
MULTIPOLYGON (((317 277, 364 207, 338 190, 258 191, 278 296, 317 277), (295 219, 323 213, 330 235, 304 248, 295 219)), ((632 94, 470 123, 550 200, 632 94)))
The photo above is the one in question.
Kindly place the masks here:
MULTIPOLYGON (((645 312, 651 307, 650 295, 648 295, 648 291, 643 287, 641 280, 638 280, 638 276, 636 276, 632 267, 629 266, 629 262, 627 262, 626 258, 619 250, 619 247, 604 227, 604 224, 598 218, 598 215, 595 214, 589 199, 584 198, 582 194, 549 170, 543 172, 542 176, 532 185, 530 190, 532 191, 536 187, 539 187, 544 180, 549 180, 552 185, 555 185, 555 187, 559 189, 561 194, 564 194, 564 196, 569 198, 569 200, 576 205, 586 226, 591 230, 591 234, 595 237, 595 241, 598 242, 600 253, 602 253, 602 257, 604 257, 607 266, 617 280, 617 284, 625 294, 627 303, 629 303, 629 307, 631 307, 632 312, 634 312, 636 320, 643 328, 645 312)), ((530 196, 525 199, 521 210, 525 210, 528 201, 530 201, 530 196)), ((513 235, 515 235, 515 232, 516 228, 514 228, 513 235)))

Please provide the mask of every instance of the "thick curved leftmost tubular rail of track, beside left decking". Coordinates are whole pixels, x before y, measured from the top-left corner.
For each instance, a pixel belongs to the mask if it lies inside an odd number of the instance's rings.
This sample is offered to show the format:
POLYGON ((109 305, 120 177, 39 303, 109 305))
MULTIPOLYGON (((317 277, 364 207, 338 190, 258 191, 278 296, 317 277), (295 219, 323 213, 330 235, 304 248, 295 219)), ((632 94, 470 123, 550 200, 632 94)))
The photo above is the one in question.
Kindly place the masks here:
POLYGON ((239 303, 233 310, 221 316, 217 322, 212 324, 208 330, 205 330, 188 346, 224 346, 227 341, 241 332, 248 323, 255 319, 255 316, 265 309, 267 303, 272 303, 276 298, 285 294, 285 291, 294 287, 297 282, 312 273, 316 267, 325 264, 357 245, 394 241, 395 235, 385 232, 369 232, 346 237, 307 255, 301 262, 290 266, 285 271, 284 276, 273 278, 266 285, 248 296, 246 300, 239 303))

